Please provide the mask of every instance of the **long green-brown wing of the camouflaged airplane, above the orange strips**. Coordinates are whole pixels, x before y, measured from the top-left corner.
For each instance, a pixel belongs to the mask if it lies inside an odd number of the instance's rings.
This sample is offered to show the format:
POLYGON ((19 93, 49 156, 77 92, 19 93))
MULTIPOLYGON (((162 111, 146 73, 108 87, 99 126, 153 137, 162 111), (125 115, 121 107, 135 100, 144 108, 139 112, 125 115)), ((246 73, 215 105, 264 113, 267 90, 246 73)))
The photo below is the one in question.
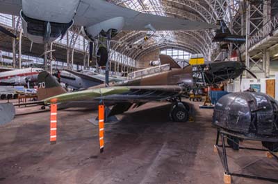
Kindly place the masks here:
POLYGON ((112 86, 64 93, 44 100, 44 104, 72 102, 80 100, 103 100, 106 104, 122 102, 139 103, 153 100, 166 100, 183 93, 181 86, 112 86))

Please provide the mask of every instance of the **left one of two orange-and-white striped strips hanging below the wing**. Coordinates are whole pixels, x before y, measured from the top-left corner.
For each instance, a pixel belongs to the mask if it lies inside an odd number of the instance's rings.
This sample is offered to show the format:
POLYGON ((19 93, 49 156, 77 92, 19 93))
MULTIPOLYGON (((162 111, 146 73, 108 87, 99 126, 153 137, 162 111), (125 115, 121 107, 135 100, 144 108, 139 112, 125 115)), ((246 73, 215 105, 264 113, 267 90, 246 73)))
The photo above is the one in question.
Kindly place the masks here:
POLYGON ((57 138, 57 104, 50 105, 50 143, 56 144, 57 138))

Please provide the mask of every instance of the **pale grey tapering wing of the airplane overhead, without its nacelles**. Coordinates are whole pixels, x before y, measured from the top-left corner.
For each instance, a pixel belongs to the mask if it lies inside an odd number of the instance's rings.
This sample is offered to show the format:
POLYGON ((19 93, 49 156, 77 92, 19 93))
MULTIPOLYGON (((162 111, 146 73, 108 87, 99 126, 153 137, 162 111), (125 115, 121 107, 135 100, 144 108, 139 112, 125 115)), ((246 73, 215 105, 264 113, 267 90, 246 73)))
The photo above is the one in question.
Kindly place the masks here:
POLYGON ((122 30, 150 30, 149 26, 156 30, 219 28, 219 26, 206 24, 205 22, 146 14, 102 0, 82 0, 74 17, 74 24, 92 26, 114 17, 124 17, 124 28, 122 30))

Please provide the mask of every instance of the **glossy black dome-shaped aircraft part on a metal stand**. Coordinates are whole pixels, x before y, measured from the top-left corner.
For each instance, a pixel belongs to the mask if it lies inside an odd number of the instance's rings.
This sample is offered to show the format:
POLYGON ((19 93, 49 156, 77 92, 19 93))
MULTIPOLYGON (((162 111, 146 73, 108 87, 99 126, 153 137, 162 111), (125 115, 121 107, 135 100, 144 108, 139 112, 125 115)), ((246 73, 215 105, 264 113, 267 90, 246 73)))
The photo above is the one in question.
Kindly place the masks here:
POLYGON ((231 134, 278 142, 278 102, 264 93, 230 93, 215 104, 213 125, 231 134))

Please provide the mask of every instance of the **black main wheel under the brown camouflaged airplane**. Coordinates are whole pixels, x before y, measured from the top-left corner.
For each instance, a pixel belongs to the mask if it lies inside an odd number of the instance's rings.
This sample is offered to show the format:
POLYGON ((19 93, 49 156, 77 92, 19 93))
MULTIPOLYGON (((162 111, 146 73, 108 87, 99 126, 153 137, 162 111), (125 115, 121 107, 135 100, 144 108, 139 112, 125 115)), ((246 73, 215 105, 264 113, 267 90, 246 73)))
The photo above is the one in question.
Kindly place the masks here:
POLYGON ((187 122, 189 119, 189 106, 185 102, 173 102, 170 118, 175 122, 187 122))

